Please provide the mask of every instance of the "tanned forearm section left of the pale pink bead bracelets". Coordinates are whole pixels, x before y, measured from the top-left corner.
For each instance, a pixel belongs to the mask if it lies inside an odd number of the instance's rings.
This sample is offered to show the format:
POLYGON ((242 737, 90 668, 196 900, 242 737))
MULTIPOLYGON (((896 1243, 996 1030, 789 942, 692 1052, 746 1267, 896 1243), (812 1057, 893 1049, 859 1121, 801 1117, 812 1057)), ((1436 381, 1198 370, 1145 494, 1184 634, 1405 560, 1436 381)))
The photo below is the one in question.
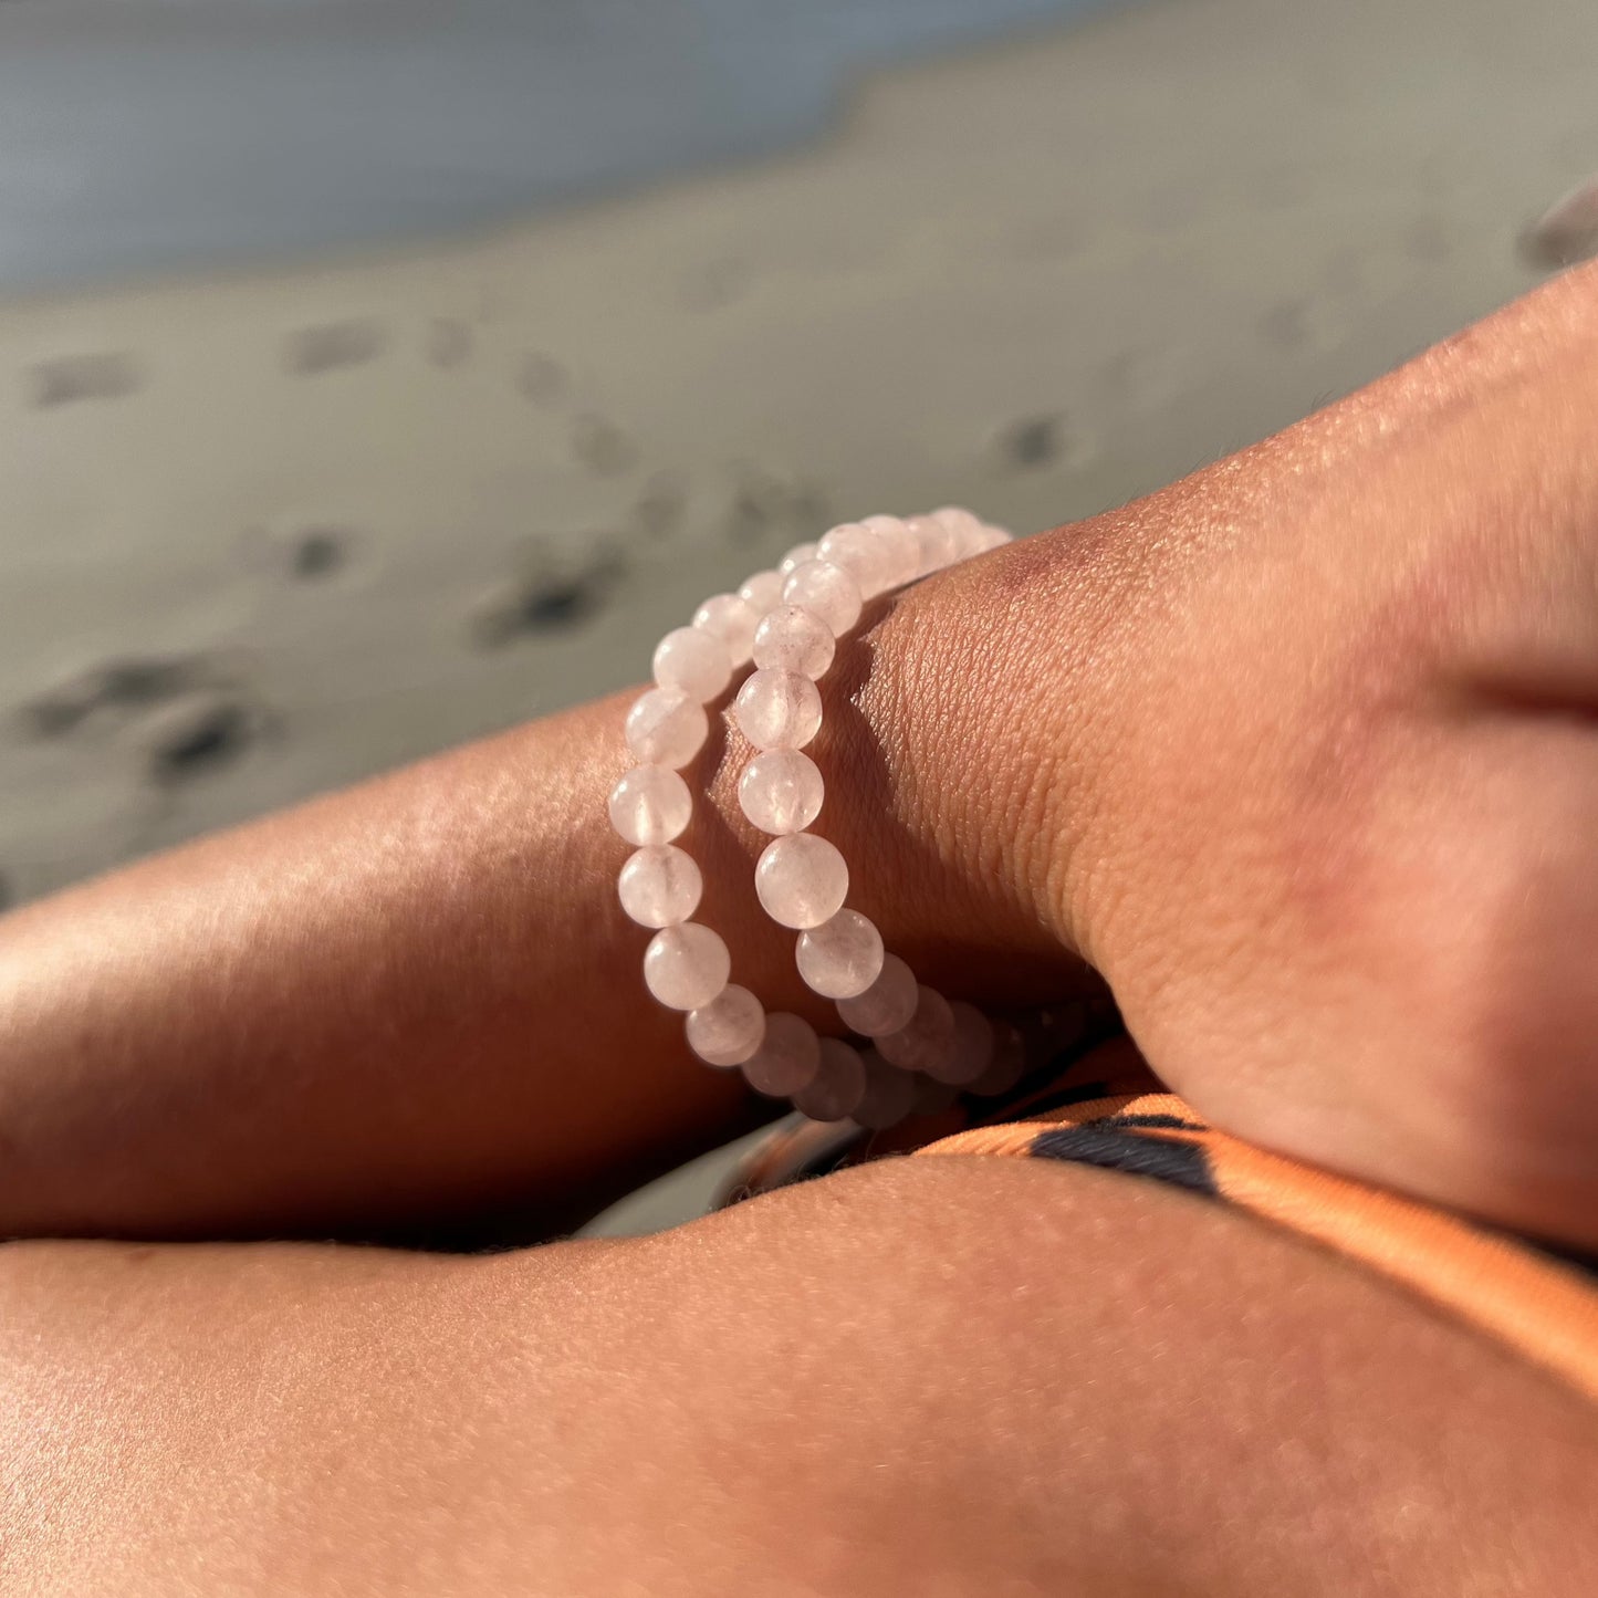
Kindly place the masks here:
MULTIPOLYGON (((0 1229, 548 1202, 714 1136, 641 997, 594 706, 0 922, 0 1229)), ((609 733, 609 737, 606 737, 609 733)))

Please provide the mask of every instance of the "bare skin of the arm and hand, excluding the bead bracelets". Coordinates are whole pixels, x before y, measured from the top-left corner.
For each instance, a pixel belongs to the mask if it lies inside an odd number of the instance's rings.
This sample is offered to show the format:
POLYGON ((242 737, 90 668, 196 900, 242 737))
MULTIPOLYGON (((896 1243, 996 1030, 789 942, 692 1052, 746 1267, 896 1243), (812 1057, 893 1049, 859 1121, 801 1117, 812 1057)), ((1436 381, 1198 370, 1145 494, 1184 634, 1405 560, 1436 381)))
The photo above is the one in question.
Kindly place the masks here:
MULTIPOLYGON (((956 996, 1085 954, 1216 1123, 1598 1246, 1595 409, 1588 270, 880 607, 817 748, 858 906, 956 996)), ((626 975, 620 703, 0 920, 0 1229, 553 1230, 725 1133, 737 1085, 626 975)), ((746 753, 689 773, 703 917, 825 1021, 746 753)))

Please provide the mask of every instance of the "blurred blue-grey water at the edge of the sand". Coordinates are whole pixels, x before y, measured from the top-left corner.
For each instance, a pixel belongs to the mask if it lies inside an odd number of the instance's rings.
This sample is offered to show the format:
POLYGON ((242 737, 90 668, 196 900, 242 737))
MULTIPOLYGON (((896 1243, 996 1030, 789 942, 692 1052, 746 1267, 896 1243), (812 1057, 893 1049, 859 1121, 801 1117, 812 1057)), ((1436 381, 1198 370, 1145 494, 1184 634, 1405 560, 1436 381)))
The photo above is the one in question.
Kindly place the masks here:
POLYGON ((524 216, 1127 0, 0 0, 0 289, 524 216))

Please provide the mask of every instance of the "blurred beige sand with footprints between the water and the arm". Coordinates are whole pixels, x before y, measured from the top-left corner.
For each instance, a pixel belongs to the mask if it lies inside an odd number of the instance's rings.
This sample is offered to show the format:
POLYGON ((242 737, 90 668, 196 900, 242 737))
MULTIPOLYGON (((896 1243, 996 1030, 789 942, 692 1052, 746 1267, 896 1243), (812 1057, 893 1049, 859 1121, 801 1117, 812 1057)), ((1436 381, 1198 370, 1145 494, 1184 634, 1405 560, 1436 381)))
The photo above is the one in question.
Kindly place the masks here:
POLYGON ((633 681, 828 519, 1294 420, 1539 281, 1595 62, 1585 0, 1171 0, 487 237, 0 305, 6 895, 633 681))

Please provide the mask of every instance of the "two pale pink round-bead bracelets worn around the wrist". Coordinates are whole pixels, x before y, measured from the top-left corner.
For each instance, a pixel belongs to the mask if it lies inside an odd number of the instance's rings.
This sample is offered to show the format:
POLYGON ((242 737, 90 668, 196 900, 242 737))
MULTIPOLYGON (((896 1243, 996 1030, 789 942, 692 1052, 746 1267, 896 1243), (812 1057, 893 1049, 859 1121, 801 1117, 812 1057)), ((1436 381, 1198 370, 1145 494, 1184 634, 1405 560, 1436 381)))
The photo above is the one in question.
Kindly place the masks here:
POLYGON ((690 626, 668 633, 655 650, 655 687, 626 718, 639 764, 612 791, 610 821, 638 845, 618 879, 622 908, 657 928, 644 981, 662 1004, 687 1012, 687 1042, 703 1061, 740 1067, 751 1087, 791 1098, 815 1120, 885 1128, 943 1107, 957 1090, 1002 1093, 1023 1069, 1015 1026, 919 984, 871 920, 845 906, 844 857, 807 831, 826 785, 802 753, 821 725, 817 681, 866 601, 1008 539, 956 508, 834 527, 737 593, 706 599, 690 626), (865 1048, 820 1037, 788 1012, 767 1015, 729 981, 722 938, 690 919, 703 880, 673 844, 694 807, 679 772, 710 735, 706 703, 751 658, 732 714, 757 751, 738 781, 740 807, 773 837, 756 865, 756 893, 773 920, 799 933, 801 976, 837 1004, 844 1024, 869 1040, 865 1048))

